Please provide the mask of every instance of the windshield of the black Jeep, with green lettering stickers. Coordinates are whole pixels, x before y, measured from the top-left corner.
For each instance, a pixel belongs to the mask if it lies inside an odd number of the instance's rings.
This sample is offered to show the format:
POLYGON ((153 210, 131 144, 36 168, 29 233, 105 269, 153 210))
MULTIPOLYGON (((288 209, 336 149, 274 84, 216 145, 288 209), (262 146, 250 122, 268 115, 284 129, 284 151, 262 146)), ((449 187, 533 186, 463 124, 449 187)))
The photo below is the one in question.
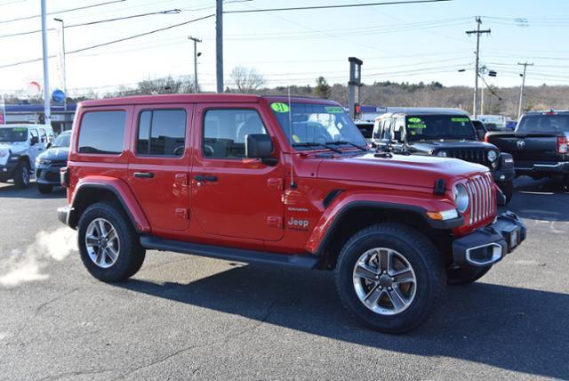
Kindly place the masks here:
POLYGON ((421 115, 407 119, 407 140, 476 140, 470 118, 464 115, 421 115))

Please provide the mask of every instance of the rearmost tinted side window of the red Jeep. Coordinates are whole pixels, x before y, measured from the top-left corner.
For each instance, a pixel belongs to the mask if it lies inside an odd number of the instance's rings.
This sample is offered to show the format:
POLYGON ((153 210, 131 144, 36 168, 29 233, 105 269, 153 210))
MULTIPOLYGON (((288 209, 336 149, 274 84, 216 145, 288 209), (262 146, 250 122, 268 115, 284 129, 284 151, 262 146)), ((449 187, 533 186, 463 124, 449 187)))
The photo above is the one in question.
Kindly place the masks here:
POLYGON ((118 155, 124 148, 126 111, 85 112, 79 127, 80 153, 118 155))

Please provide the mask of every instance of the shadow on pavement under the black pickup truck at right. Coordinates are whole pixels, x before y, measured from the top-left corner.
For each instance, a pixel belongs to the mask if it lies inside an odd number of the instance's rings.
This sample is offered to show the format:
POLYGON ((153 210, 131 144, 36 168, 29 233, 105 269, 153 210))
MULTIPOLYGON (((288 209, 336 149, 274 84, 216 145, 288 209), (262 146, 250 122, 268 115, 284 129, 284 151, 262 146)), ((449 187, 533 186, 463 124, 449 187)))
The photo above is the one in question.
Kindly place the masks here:
POLYGON ((569 221, 569 191, 560 181, 516 180, 516 193, 506 209, 522 218, 541 221, 569 221))

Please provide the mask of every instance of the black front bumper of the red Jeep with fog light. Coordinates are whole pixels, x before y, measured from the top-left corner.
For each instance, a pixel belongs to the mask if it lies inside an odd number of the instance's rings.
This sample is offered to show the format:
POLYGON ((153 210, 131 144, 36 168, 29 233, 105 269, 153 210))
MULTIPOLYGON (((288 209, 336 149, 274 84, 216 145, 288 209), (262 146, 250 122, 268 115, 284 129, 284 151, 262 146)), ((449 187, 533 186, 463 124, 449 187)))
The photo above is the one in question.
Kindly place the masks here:
POLYGON ((504 212, 493 224, 453 242, 454 263, 459 266, 492 265, 518 247, 525 235, 525 224, 517 215, 504 212))

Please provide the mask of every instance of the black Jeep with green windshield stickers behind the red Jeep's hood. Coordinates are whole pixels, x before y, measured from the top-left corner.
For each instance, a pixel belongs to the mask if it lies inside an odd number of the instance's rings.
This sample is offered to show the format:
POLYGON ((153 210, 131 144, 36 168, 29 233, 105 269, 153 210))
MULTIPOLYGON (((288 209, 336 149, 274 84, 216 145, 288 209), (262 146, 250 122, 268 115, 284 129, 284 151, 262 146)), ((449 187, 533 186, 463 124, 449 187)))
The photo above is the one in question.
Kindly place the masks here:
POLYGON ((509 202, 514 160, 493 144, 478 142, 478 136, 469 114, 461 109, 407 109, 376 118, 372 142, 381 150, 460 158, 486 166, 509 202))

